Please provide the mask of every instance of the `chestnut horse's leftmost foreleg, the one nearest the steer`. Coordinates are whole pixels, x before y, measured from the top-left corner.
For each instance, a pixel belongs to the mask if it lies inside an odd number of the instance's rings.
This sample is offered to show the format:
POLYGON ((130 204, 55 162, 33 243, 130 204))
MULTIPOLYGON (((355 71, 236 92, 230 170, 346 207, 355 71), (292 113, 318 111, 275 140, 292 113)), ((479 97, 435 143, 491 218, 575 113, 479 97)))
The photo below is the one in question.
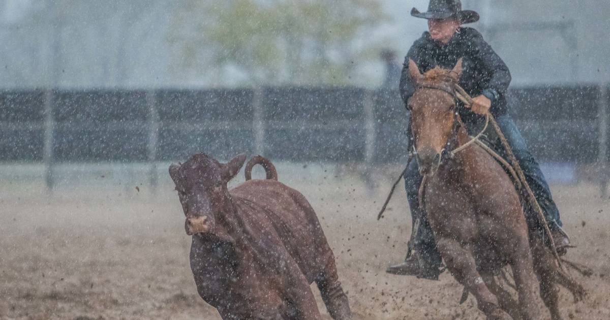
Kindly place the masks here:
POLYGON ((462 247, 458 241, 449 238, 437 238, 437 246, 451 274, 475 296, 477 306, 487 320, 511 319, 499 307, 497 297, 489 291, 483 278, 476 271, 475 259, 470 251, 462 247))

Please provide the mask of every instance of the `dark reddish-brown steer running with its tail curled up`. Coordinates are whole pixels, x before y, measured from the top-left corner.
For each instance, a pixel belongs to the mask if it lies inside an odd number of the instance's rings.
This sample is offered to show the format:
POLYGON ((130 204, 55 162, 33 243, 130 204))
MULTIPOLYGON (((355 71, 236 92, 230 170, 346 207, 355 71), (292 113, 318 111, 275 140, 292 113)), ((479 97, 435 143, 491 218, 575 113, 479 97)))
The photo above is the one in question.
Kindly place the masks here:
POLYGON ((170 166, 185 229, 193 235, 190 265, 197 291, 223 319, 320 319, 309 285, 315 281, 334 319, 350 319, 335 258, 303 194, 277 181, 269 160, 246 165, 244 154, 221 164, 204 154, 170 166), (261 164, 267 180, 249 180, 261 164))

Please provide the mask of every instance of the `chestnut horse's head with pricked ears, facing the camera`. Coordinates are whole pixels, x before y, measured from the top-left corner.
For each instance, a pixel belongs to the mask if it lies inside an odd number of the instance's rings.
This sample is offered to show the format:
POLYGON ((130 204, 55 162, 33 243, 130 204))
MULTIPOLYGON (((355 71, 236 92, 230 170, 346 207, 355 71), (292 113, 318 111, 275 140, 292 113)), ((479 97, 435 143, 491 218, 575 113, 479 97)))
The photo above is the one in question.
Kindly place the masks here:
POLYGON ((409 75, 415 93, 407 108, 411 110, 411 130, 417 150, 420 174, 433 174, 439 168, 443 152, 456 129, 454 88, 462 73, 462 59, 453 69, 438 66, 425 74, 409 60, 409 75))

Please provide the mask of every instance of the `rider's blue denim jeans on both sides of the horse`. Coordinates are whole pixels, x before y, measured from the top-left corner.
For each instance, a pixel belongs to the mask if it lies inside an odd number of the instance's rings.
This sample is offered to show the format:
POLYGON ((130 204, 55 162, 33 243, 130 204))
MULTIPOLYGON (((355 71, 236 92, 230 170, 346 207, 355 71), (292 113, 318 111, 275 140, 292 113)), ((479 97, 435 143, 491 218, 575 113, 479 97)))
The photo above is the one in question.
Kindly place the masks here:
MULTIPOLYGON (((517 158, 517 162, 519 162, 519 165, 523 169, 525 179, 536 196, 540 207, 542 207, 549 225, 551 227, 553 224, 562 226, 561 220, 559 219, 559 210, 553 201, 553 197, 551 197, 551 191, 544 174, 542 174, 542 171, 540 170, 540 165, 538 165, 534 156, 529 152, 525 139, 519 132, 519 129, 511 116, 501 115, 495 119, 500 130, 504 133, 506 140, 508 140, 508 144, 511 146, 512 152, 517 158)), ((468 126, 468 124, 466 124, 466 126, 468 126)), ((428 219, 426 219, 425 212, 422 212, 423 210, 420 210, 418 207, 418 193, 421 183, 422 176, 420 176, 418 172, 417 162, 413 161, 404 174, 404 185, 407 191, 407 199, 409 201, 409 207, 411 208, 413 223, 415 224, 415 221, 419 218, 419 227, 417 234, 412 238, 413 243, 411 243, 411 246, 418 250, 420 254, 423 255, 423 258, 427 258, 429 262, 440 265, 440 254, 436 248, 434 234, 432 233, 428 219)))

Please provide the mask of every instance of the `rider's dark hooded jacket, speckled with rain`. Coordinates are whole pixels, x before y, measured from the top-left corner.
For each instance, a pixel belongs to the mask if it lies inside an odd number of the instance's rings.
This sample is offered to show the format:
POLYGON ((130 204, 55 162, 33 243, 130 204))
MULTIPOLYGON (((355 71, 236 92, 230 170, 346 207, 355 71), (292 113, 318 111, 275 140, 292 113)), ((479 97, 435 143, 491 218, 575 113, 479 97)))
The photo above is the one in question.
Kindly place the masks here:
MULTIPOLYGON (((473 98, 481 94, 489 98, 492 101, 490 111, 493 116, 506 114, 506 91, 511 84, 511 73, 491 46, 483 40, 483 36, 468 27, 459 28, 447 44, 434 41, 429 32, 424 32, 422 37, 413 43, 404 59, 400 78, 400 93, 404 103, 406 104, 415 91, 409 77, 409 58, 417 63, 421 73, 425 73, 435 66, 451 69, 461 57, 464 60, 459 85, 473 98)), ((465 118, 474 116, 470 110, 463 107, 460 109, 465 121, 465 118)))

